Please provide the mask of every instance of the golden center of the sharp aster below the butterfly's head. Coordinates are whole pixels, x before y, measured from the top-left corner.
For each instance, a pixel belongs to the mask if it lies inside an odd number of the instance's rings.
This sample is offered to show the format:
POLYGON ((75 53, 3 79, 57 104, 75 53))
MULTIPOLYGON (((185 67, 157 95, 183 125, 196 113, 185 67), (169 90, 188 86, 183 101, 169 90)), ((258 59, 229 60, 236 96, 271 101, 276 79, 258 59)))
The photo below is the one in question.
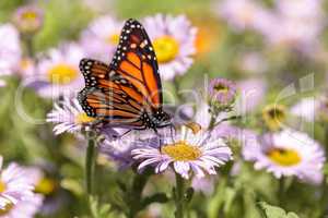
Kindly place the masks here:
POLYGON ((197 146, 189 145, 184 141, 165 145, 162 152, 177 161, 197 160, 201 156, 201 150, 197 146))

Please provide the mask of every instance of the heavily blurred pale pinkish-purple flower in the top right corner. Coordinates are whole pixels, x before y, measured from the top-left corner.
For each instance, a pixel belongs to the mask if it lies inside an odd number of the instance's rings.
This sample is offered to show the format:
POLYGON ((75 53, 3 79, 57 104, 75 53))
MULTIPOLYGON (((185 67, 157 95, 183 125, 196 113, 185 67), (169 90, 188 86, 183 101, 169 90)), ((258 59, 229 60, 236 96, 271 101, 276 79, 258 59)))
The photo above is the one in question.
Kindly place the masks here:
POLYGON ((260 29, 271 46, 294 48, 312 55, 319 48, 318 37, 324 28, 323 1, 279 0, 272 21, 260 29))

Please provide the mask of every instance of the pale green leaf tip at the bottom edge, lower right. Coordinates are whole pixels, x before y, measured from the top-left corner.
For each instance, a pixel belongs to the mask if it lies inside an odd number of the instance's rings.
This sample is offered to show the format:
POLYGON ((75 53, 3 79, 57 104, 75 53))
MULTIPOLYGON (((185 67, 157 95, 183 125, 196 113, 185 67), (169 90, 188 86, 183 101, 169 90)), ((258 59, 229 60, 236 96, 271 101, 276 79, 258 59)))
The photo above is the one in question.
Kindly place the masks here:
POLYGON ((258 203, 258 207, 263 218, 298 218, 295 213, 286 213, 284 209, 271 206, 266 202, 258 203))

